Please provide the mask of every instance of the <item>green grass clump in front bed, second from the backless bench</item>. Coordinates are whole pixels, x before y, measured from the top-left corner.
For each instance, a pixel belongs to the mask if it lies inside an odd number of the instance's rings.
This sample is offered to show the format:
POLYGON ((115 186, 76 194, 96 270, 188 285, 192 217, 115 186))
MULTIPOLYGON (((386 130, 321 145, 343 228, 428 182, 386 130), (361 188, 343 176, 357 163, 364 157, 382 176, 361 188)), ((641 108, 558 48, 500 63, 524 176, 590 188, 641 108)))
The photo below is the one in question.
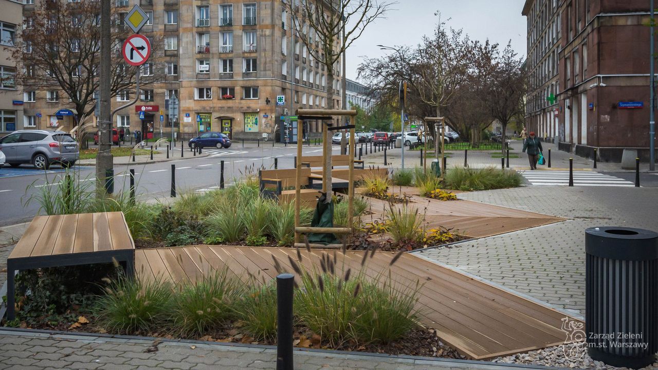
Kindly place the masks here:
POLYGON ((235 316, 234 304, 243 284, 228 268, 185 284, 174 294, 172 330, 183 336, 202 336, 235 316))

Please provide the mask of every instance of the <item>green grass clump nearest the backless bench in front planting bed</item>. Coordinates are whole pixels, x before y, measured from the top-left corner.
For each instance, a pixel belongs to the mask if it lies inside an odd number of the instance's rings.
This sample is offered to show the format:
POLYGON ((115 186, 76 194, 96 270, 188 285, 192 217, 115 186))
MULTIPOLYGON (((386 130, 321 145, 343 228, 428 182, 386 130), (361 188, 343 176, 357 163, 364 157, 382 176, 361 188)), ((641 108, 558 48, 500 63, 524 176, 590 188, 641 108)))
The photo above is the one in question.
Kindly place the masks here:
POLYGON ((172 289, 161 280, 119 277, 99 296, 95 313, 108 332, 160 330, 171 314, 172 289))

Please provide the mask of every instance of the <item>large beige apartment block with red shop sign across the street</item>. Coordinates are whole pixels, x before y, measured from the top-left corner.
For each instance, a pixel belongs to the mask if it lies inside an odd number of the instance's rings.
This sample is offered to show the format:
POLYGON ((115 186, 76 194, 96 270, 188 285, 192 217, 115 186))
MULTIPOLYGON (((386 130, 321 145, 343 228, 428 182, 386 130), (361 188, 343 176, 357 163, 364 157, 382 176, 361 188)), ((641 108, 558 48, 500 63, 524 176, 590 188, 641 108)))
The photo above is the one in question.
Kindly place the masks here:
MULTIPOLYGON (((340 107, 340 73, 334 81, 327 80, 326 68, 311 57, 301 40, 309 38, 319 47, 313 29, 294 29, 282 0, 115 1, 118 26, 134 4, 148 14, 150 20, 140 33, 161 40, 154 42, 161 47, 153 50, 141 73, 163 75, 141 86, 135 105, 116 113, 115 127, 140 130, 145 138, 160 132, 168 136, 172 130, 190 138, 212 130, 255 140, 263 134, 280 136, 288 128, 286 121, 291 122, 292 133, 297 108, 328 107, 328 84, 334 84, 334 101, 340 107), (164 73, 155 68, 163 68, 164 73), (284 97, 283 105, 277 103, 279 96, 284 97), (174 97, 176 118, 169 115, 174 97)), ((26 13, 35 6, 26 5, 26 13)), ((113 109, 132 101, 134 93, 118 92, 113 109)), ((57 120, 55 113, 70 107, 66 99, 49 99, 53 94, 36 92, 26 109, 31 115, 47 116, 45 122, 57 120)), ((72 119, 61 118, 60 128, 72 126, 72 119)), ((305 132, 320 132, 318 122, 305 123, 305 132)))

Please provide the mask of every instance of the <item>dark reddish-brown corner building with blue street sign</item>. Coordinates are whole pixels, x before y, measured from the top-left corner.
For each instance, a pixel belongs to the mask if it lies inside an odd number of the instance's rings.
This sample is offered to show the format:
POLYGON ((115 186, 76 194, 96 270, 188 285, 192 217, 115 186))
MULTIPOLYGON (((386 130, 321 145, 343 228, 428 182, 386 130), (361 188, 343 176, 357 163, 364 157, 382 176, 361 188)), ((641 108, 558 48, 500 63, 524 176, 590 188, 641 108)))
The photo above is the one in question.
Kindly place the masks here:
MULTIPOLYGON (((555 12, 558 28, 556 105, 549 105, 553 103, 550 93, 542 96, 542 78, 533 73, 531 86, 540 86, 540 92, 531 89, 528 96, 530 129, 541 137, 555 138, 561 149, 585 157, 593 157, 597 149, 599 159, 620 161, 624 149, 637 149, 638 156, 647 159, 649 4, 642 0, 528 0, 523 14, 528 16, 529 61, 538 60, 530 25, 544 17, 547 9, 555 12), (546 96, 551 101, 544 100, 546 96), (541 109, 552 109, 554 120, 548 119, 550 112, 534 114, 541 109)), ((546 45, 545 50, 555 55, 555 45, 546 45)))

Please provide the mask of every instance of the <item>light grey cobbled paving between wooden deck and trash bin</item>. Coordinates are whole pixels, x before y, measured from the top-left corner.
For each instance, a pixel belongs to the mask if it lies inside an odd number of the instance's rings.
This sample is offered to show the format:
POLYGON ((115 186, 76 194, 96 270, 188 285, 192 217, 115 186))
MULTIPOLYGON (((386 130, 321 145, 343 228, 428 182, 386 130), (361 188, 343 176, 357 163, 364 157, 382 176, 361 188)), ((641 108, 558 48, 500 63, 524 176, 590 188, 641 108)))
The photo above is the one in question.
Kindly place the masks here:
POLYGON ((569 220, 419 255, 581 315, 585 311, 585 229, 628 226, 658 231, 658 188, 526 186, 459 197, 569 220))

